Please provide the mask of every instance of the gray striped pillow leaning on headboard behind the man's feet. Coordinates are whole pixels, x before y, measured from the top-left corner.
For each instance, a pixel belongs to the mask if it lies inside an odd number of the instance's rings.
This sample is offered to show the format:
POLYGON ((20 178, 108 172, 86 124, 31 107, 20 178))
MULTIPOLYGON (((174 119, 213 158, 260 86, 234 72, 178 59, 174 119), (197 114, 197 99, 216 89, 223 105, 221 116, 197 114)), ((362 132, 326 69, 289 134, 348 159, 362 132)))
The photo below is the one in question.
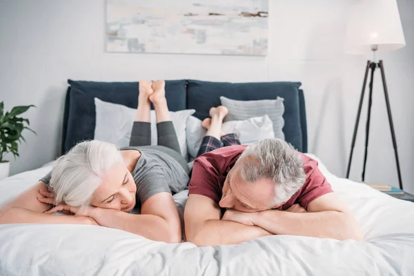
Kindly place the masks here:
POLYGON ((259 101, 237 101, 235 99, 228 99, 220 97, 221 105, 228 108, 228 115, 224 121, 241 121, 251 117, 260 117, 268 115, 273 123, 273 131, 275 138, 284 140, 284 104, 281 97, 277 99, 262 99, 259 101))

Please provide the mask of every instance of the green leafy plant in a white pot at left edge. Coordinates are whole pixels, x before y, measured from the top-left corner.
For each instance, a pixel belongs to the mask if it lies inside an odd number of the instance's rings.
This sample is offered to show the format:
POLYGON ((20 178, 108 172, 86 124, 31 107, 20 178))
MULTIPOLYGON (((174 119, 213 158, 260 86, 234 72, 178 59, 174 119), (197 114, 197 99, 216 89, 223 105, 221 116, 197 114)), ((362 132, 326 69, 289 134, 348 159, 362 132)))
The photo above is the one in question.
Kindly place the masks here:
POLYGON ((30 125, 28 119, 17 117, 21 113, 26 112, 30 106, 14 106, 10 112, 4 112, 4 103, 0 102, 0 179, 9 176, 10 162, 4 160, 4 155, 11 152, 14 159, 19 157, 19 143, 26 141, 21 132, 26 128, 36 134, 28 126, 30 125))

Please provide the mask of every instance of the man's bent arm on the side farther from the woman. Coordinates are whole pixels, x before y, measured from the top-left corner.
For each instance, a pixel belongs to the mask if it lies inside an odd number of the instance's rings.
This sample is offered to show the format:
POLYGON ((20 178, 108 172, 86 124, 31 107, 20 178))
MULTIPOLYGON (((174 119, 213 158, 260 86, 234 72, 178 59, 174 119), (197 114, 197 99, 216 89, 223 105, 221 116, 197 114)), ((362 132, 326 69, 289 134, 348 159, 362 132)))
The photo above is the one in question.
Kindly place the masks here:
MULTIPOLYGON (((314 199, 308 204, 308 212, 305 213, 266 210, 238 215, 248 216, 254 225, 275 235, 362 240, 357 221, 335 193, 328 193, 314 199)), ((239 219, 230 218, 230 220, 239 219)))

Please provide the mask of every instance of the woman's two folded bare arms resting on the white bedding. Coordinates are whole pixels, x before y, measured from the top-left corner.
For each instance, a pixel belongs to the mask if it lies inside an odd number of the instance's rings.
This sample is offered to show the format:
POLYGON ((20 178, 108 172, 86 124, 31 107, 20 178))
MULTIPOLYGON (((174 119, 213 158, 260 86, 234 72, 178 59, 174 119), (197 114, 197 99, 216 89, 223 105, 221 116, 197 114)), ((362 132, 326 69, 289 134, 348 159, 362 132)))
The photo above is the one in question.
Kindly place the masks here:
MULTIPOLYGON (((0 224, 89 224, 126 230, 148 239, 181 242, 181 224, 177 207, 170 193, 158 193, 141 206, 141 215, 119 210, 92 208, 83 215, 48 215, 49 204, 41 203, 39 190, 47 190, 39 181, 19 197, 0 207, 0 224)), ((69 207, 68 207, 69 208, 69 207)), ((75 213, 75 209, 66 209, 75 213)))

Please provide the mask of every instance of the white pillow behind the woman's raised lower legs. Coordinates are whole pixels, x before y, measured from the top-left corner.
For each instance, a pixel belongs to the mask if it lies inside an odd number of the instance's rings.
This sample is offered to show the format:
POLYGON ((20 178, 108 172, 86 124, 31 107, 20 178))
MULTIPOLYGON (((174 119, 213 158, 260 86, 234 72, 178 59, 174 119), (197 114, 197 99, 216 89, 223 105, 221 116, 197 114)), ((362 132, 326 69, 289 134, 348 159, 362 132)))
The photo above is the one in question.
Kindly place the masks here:
MULTIPOLYGON (((108 103, 95 98, 96 126, 95 140, 106 141, 119 148, 129 146, 132 125, 134 124, 135 108, 128 108, 117 103, 108 103)), ((172 124, 177 133, 181 155, 187 160, 186 121, 195 110, 170 111, 172 124)), ((157 145, 157 120, 155 111, 151 110, 151 145, 157 145)))

